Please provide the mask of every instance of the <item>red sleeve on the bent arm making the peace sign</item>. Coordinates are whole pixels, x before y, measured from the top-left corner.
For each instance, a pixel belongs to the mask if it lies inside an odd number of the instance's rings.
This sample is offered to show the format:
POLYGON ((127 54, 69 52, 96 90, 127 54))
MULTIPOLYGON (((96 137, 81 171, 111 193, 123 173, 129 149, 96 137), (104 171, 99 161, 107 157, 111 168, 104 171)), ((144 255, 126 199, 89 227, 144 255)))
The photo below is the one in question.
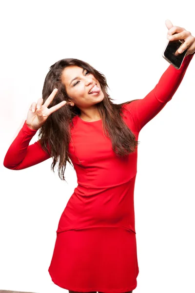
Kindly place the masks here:
POLYGON ((26 125, 26 121, 19 134, 8 148, 3 166, 12 170, 21 170, 39 164, 50 158, 40 146, 39 141, 29 146, 32 137, 37 130, 26 125))

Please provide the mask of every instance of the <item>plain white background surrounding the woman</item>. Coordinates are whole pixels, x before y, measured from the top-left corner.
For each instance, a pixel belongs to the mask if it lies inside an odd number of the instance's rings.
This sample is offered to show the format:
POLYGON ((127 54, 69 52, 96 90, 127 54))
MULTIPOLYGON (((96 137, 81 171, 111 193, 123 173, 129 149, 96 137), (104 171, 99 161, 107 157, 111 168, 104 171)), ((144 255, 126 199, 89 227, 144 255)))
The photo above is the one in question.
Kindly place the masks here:
MULTIPOLYGON (((0 7, 0 289, 68 292, 48 273, 59 217, 77 177, 52 159, 15 171, 8 147, 49 67, 77 58, 102 72, 117 104, 144 98, 169 66, 165 20, 195 36, 192 1, 3 1, 0 7)), ((195 59, 173 99, 139 134, 135 293, 195 292, 195 59)), ((30 144, 38 140, 38 132, 30 144)))

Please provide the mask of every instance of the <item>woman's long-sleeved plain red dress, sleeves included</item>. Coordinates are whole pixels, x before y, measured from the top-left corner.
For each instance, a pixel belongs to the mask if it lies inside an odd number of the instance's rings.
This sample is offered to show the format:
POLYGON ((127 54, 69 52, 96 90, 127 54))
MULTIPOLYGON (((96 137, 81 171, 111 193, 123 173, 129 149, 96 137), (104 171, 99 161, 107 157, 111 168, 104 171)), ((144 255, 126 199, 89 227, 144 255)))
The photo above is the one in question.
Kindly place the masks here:
MULTIPOLYGON (((169 65, 145 98, 123 108, 123 119, 137 140, 141 128, 172 99, 193 55, 185 57, 179 70, 169 65)), ((101 120, 85 122, 75 116, 73 123, 69 153, 78 186, 61 214, 49 273, 66 290, 134 290, 139 272, 134 214, 137 150, 118 158, 103 135, 101 120)), ((29 146, 36 131, 24 123, 6 153, 5 167, 20 170, 50 157, 39 141, 29 146)))

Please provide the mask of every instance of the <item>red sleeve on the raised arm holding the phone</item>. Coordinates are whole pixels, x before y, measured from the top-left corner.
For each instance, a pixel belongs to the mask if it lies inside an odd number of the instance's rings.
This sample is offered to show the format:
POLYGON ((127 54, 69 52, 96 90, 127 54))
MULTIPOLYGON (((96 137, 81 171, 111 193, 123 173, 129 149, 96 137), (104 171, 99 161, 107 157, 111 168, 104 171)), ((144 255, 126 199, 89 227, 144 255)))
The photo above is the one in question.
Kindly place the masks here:
POLYGON ((158 84, 145 98, 124 105, 124 108, 131 113, 137 132, 152 120, 167 102, 172 99, 194 54, 187 55, 184 58, 180 69, 176 69, 170 64, 161 76, 158 84))

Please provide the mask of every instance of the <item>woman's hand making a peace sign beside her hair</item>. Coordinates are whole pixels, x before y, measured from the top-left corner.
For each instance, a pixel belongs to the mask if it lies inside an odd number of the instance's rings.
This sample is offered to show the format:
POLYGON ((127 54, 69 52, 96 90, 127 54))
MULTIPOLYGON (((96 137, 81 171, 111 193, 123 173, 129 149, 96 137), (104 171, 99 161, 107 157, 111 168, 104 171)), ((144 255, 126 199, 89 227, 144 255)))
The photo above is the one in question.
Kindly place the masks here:
POLYGON ((53 101, 57 92, 58 92, 58 89, 55 88, 43 105, 42 105, 43 103, 42 98, 38 100, 38 103, 36 102, 32 103, 32 105, 30 106, 30 109, 28 110, 28 114, 26 118, 26 124, 28 127, 30 127, 31 129, 38 130, 43 125, 43 123, 46 121, 46 119, 51 113, 55 112, 56 110, 58 110, 59 108, 61 108, 62 106, 66 104, 66 101, 62 101, 58 105, 55 105, 49 109, 47 108, 48 105, 50 105, 51 102, 53 101))

